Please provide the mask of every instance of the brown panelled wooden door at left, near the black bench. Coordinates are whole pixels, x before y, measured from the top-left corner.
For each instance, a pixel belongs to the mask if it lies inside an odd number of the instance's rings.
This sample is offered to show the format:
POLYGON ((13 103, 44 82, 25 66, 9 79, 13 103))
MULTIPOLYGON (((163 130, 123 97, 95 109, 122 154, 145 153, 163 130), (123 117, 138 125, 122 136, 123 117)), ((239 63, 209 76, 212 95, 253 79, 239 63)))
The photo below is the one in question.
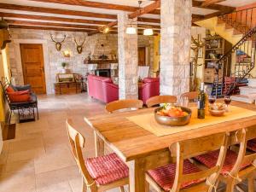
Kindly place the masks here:
POLYGON ((31 84, 37 94, 45 94, 44 54, 42 44, 20 44, 24 84, 31 84))

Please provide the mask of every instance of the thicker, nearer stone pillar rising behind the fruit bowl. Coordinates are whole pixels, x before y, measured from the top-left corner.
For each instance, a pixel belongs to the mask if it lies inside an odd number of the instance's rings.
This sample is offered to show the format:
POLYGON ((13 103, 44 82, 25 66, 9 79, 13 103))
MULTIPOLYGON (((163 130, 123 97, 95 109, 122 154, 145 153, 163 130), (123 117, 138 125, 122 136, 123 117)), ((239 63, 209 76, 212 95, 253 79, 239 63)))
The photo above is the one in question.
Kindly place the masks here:
POLYGON ((192 0, 161 0, 160 94, 189 91, 192 0))

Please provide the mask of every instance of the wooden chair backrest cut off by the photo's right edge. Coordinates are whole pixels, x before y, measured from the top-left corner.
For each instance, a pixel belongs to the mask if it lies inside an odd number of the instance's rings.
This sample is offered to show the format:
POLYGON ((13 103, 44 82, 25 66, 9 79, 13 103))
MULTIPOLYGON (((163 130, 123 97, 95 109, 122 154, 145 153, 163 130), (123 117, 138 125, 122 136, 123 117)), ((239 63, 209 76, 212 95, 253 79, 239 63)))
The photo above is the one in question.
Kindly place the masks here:
MULTIPOLYGON (((254 120, 256 123, 256 120, 254 120)), ((243 173, 249 173, 256 170, 256 152, 247 153, 247 142, 251 139, 256 138, 256 125, 249 126, 247 128, 238 130, 231 133, 230 145, 239 143, 239 151, 237 155, 236 164, 232 170, 227 173, 232 177, 238 177, 238 174, 242 171, 243 173), (241 170, 241 167, 246 166, 241 170)), ((242 174, 242 173, 241 173, 242 174)))

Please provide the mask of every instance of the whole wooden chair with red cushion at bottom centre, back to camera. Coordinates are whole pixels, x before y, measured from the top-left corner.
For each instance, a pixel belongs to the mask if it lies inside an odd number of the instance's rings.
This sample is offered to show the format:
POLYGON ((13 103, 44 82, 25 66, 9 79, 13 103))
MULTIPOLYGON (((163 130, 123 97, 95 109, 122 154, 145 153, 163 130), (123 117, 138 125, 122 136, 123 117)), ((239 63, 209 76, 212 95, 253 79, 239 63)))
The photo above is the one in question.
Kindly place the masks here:
POLYGON ((158 192, 212 191, 224 163, 228 141, 229 133, 222 132, 172 143, 169 148, 172 164, 149 170, 146 181, 158 192), (211 168, 201 170, 189 160, 198 154, 206 154, 216 149, 220 150, 218 161, 211 168))

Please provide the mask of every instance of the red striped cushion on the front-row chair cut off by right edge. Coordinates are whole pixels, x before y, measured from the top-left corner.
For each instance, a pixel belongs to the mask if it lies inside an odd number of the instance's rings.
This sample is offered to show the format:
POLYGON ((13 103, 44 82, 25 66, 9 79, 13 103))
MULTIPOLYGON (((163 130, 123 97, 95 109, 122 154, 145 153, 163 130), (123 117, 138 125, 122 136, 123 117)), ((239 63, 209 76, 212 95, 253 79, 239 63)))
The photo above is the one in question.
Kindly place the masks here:
MULTIPOLYGON (((208 168, 211 168, 213 166, 216 166, 216 163, 218 160, 218 154, 219 154, 219 150, 212 151, 210 153, 201 154, 195 157, 195 160, 198 160, 208 168)), ((226 158, 224 160, 224 166, 221 170, 221 174, 227 174, 227 172, 230 172, 236 163, 236 159, 237 159, 237 154, 234 151, 228 150, 226 154, 226 158)), ((244 169, 246 166, 249 166, 249 165, 250 164, 243 164, 241 165, 241 169, 244 169)))

